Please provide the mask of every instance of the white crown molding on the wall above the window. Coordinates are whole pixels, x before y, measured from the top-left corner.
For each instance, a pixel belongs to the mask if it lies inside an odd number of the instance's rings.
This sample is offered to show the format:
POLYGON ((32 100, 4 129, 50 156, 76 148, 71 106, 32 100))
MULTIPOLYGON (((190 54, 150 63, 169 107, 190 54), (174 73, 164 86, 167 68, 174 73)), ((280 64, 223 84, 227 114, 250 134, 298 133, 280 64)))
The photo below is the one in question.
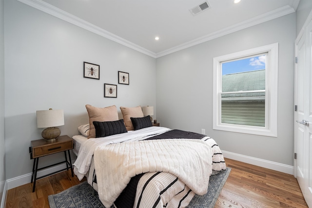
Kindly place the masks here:
POLYGON ((281 8, 275 9, 271 12, 266 13, 266 14, 259 15, 257 17, 251 18, 247 21, 242 21, 242 22, 239 22, 237 24, 233 24, 233 25, 226 27, 224 29, 221 29, 221 30, 215 31, 213 33, 210 33, 208 35, 197 38, 193 41, 186 42, 186 43, 180 44, 176 47, 172 47, 168 50, 156 53, 156 58, 166 56, 168 54, 183 50, 185 48, 192 47, 194 45, 197 45, 197 44, 200 44, 203 42, 211 41, 213 39, 228 35, 230 33, 237 32, 237 31, 242 30, 242 29, 246 29, 248 27, 251 27, 251 26, 266 22, 266 21, 270 21, 270 20, 282 17, 284 15, 291 14, 293 12, 295 12, 295 10, 291 6, 288 6, 288 5, 283 6, 281 8))

